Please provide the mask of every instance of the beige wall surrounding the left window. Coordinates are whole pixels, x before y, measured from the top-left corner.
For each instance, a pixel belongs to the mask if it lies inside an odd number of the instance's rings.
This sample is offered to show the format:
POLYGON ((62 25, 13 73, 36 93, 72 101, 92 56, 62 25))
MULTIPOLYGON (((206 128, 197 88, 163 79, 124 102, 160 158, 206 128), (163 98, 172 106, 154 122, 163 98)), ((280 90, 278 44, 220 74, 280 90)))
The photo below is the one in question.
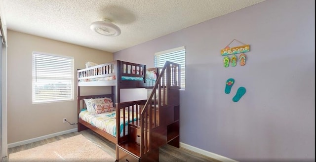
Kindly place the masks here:
MULTIPOLYGON (((84 68, 86 61, 109 62, 113 60, 113 54, 10 30, 7 31, 7 41, 8 144, 76 128, 62 121, 67 118, 77 123, 76 81, 74 101, 32 104, 32 52, 74 57, 75 79, 76 69, 84 68)), ((105 93, 111 93, 111 89, 81 89, 81 94, 105 93)))

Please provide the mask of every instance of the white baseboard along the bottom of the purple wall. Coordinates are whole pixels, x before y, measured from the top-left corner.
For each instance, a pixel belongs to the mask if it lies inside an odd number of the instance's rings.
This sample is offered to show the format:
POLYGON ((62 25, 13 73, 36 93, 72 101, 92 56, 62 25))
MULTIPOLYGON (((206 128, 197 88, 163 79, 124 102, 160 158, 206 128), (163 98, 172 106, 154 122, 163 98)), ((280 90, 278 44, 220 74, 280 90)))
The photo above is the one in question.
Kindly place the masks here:
POLYGON ((221 162, 237 162, 237 161, 235 161, 233 159, 229 159, 229 158, 223 157, 221 155, 218 155, 218 154, 215 154, 215 153, 211 153, 211 152, 199 149, 197 147, 194 147, 194 146, 182 143, 182 142, 180 142, 180 147, 188 149, 188 150, 196 152, 196 153, 199 153, 199 154, 202 154, 202 155, 205 155, 207 157, 219 160, 221 162))

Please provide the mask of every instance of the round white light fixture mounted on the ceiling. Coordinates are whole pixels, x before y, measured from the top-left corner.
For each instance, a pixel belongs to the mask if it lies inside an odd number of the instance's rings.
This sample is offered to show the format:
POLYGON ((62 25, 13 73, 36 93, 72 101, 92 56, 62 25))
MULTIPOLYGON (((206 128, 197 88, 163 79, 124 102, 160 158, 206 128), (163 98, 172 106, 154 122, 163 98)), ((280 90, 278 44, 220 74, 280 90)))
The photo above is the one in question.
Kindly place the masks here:
POLYGON ((98 34, 105 36, 118 36, 120 35, 120 29, 118 26, 111 23, 111 20, 104 19, 104 21, 96 21, 90 25, 90 29, 97 32, 98 34))

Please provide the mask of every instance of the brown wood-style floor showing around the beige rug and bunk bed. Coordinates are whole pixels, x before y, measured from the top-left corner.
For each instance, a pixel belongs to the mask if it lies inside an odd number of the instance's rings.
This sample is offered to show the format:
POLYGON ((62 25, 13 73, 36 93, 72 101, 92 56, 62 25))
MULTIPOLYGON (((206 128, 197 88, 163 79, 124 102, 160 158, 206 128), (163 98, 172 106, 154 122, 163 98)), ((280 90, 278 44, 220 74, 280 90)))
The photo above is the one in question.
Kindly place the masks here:
MULTIPOLYGON (((83 130, 80 132, 72 132, 72 133, 44 139, 41 141, 29 143, 26 145, 9 148, 8 154, 10 155, 11 153, 31 149, 40 145, 44 145, 50 142, 55 142, 55 141, 69 138, 69 137, 79 135, 79 134, 82 134, 84 137, 88 138, 90 141, 99 145, 101 149, 103 149, 112 157, 116 158, 116 145, 89 129, 83 130)), ((6 158, 7 162, 8 162, 8 158, 6 158)), ((192 152, 187 149, 183 149, 183 148, 178 149, 173 146, 166 145, 159 149, 159 162, 220 162, 220 161, 192 152)))

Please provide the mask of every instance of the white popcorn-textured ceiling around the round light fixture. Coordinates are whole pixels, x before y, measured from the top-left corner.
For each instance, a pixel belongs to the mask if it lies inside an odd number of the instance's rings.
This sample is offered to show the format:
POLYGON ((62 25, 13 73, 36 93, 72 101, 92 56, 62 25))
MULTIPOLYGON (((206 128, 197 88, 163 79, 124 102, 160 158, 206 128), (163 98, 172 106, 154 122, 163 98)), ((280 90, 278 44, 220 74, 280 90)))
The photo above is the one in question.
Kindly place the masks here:
POLYGON ((3 0, 3 8, 8 30, 116 52, 262 1, 3 0), (104 18, 120 28, 119 36, 90 30, 104 18))

